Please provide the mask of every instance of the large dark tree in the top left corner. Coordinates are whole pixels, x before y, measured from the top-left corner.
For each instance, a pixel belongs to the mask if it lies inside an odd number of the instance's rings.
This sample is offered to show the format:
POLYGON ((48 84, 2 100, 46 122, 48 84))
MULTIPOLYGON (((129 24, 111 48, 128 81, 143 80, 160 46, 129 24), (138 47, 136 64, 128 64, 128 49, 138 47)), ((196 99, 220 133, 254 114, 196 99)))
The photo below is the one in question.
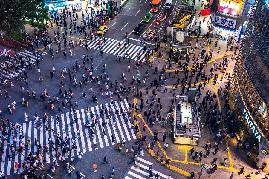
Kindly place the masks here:
POLYGON ((7 35, 19 32, 25 24, 27 0, 0 1, 0 29, 7 35))

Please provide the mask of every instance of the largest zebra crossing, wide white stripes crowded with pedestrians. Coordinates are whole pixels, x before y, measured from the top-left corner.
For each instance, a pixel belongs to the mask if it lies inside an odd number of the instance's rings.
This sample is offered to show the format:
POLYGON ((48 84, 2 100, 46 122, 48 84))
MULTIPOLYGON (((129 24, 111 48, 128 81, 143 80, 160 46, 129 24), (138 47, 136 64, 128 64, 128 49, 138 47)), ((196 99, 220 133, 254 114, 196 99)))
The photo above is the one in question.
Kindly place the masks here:
MULTIPOLYGON (((110 104, 106 103, 104 106, 109 109, 110 104)), ((128 102, 126 100, 122 101, 121 103, 118 101, 115 101, 114 105, 111 105, 111 109, 113 112, 115 112, 115 107, 121 107, 123 110, 127 109, 128 110, 128 102)), ((133 129, 131 128, 131 123, 130 121, 125 122, 123 119, 122 115, 117 115, 116 118, 116 123, 112 124, 113 119, 111 118, 106 118, 106 116, 100 116, 100 111, 99 109, 102 109, 102 105, 96 105, 89 107, 90 111, 94 114, 94 119, 97 119, 98 126, 96 126, 94 130, 95 138, 91 137, 90 131, 87 127, 85 127, 86 124, 86 119, 88 121, 91 121, 91 114, 87 113, 86 108, 85 109, 79 109, 76 108, 76 113, 77 113, 77 122, 74 123, 74 125, 71 124, 71 120, 74 117, 70 112, 65 112, 65 113, 59 113, 59 117, 61 117, 61 121, 57 123, 56 117, 57 114, 54 116, 50 116, 48 118, 48 123, 46 122, 45 124, 48 126, 50 131, 45 131, 45 125, 40 125, 36 124, 35 121, 29 121, 28 123, 23 123, 21 124, 22 129, 25 134, 25 138, 23 138, 22 142, 25 143, 26 139, 30 139, 31 146, 25 146, 25 150, 22 151, 22 153, 15 155, 12 154, 13 159, 8 161, 7 154, 11 153, 10 151, 10 144, 13 141, 13 138, 11 137, 11 131, 7 127, 7 132, 9 133, 8 139, 11 141, 10 143, 7 143, 7 141, 4 142, 4 151, 5 153, 3 154, 2 159, 4 161, 1 162, 1 171, 4 171, 7 175, 10 175, 12 173, 15 173, 17 171, 14 171, 14 164, 13 162, 18 162, 19 167, 21 166, 21 163, 25 160, 27 160, 27 155, 30 152, 35 152, 37 151, 36 146, 34 145, 35 139, 39 141, 41 146, 44 146, 45 143, 48 144, 48 138, 52 137, 52 142, 55 143, 57 139, 57 134, 60 134, 62 136, 62 139, 64 140, 66 135, 70 137, 70 143, 71 139, 74 139, 74 142, 76 143, 77 146, 77 152, 74 153, 74 150, 71 150, 71 154, 78 155, 80 151, 83 153, 86 152, 91 152, 93 150, 97 150, 100 148, 108 147, 111 145, 115 145, 118 142, 121 142, 123 139, 125 141, 130 141, 133 139, 136 139, 136 135, 133 129), (108 125, 105 125, 104 128, 102 127, 102 121, 108 122, 108 125), (54 133, 53 130, 54 129, 54 133), (75 140, 75 135, 74 132, 77 131, 77 129, 80 129, 80 136, 79 140, 75 140), (103 129, 105 129, 105 132, 107 135, 103 136, 103 129), (115 142, 111 142, 110 136, 114 134, 115 142), (102 137, 103 136, 103 137, 102 137), (6 155, 6 156, 4 156, 6 155)), ((40 114, 41 115, 41 114, 40 114)), ((109 116, 108 116, 109 117, 109 116)), ((40 121, 42 122, 42 120, 40 121)), ((42 123, 41 123, 42 124, 42 123)), ((16 145, 17 148, 19 148, 19 132, 17 134, 17 143, 13 143, 14 147, 16 145)), ((57 143, 57 142, 56 142, 57 143)), ((55 144, 57 146, 57 144, 55 144)), ((46 163, 51 163, 55 160, 61 160, 61 158, 56 156, 56 151, 52 149, 52 144, 48 145, 48 150, 43 151, 43 155, 45 157, 46 163)), ((57 147, 56 147, 57 149, 57 147)), ((59 148, 60 154, 62 155, 61 148, 59 148)), ((64 154, 63 154, 64 155, 64 154)), ((68 157, 68 154, 65 153, 65 157, 68 157)), ((76 157, 75 157, 76 158, 76 157)))

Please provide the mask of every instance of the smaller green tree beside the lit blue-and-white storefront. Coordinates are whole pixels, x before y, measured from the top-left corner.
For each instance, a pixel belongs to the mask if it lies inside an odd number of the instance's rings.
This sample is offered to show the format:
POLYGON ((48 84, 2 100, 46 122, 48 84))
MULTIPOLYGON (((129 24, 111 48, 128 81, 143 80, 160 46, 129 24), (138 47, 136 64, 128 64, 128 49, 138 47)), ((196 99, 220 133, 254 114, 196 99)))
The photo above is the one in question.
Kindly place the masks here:
POLYGON ((30 21, 36 20, 37 23, 43 23, 44 21, 49 21, 48 16, 49 9, 45 7, 44 0, 30 0, 28 1, 28 11, 26 13, 27 19, 30 21))

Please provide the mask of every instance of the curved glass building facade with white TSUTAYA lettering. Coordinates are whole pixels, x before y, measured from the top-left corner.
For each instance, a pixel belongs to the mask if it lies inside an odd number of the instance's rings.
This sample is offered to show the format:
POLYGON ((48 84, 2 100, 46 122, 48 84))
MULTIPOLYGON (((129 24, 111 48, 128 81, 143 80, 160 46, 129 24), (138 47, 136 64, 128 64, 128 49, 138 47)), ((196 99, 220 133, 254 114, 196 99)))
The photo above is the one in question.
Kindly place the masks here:
POLYGON ((230 91, 232 115, 236 119, 234 129, 242 137, 242 145, 246 142, 250 148, 256 145, 258 166, 269 163, 268 4, 268 0, 253 2, 230 91))

